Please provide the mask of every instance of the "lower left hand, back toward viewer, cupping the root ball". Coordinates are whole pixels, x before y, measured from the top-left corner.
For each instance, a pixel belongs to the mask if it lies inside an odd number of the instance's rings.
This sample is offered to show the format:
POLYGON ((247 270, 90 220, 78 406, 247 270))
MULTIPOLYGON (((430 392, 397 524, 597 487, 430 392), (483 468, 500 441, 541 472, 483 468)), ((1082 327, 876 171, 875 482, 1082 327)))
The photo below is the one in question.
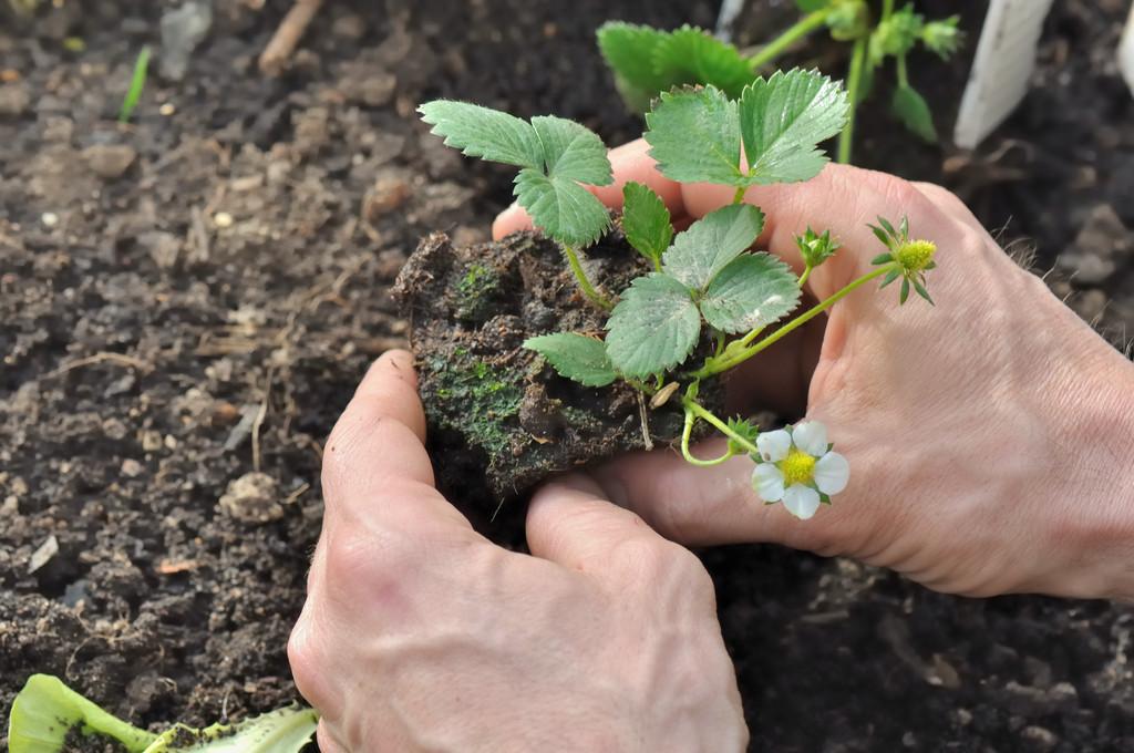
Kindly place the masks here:
POLYGON ((288 657, 330 752, 743 751, 712 582, 590 480, 544 488, 532 556, 434 489, 413 359, 379 358, 327 443, 288 657))

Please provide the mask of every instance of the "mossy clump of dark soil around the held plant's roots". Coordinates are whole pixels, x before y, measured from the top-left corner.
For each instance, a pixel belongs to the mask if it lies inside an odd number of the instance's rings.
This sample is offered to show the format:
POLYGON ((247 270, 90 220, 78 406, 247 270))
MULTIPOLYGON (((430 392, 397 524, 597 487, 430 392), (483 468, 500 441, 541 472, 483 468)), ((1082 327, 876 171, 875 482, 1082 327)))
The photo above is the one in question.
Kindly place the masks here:
MULTIPOLYGON (((649 271, 617 227, 584 264, 608 295, 649 271)), ((393 294, 409 322, 438 483, 459 490, 465 506, 494 510, 556 473, 680 439, 676 400, 648 409, 626 383, 583 387, 523 347, 551 332, 601 336, 607 320, 579 294, 553 242, 524 232, 455 247, 432 235, 393 294)), ((703 401, 713 397, 705 386, 703 401)), ((723 405, 719 388, 716 397, 711 409, 723 405)))

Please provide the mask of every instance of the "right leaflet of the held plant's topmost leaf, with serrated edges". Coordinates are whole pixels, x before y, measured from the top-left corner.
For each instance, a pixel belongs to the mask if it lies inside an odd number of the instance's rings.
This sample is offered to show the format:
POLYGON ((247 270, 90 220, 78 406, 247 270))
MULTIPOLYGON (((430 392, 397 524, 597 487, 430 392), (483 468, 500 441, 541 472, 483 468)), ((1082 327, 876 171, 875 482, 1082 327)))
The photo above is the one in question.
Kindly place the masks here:
POLYGON ((741 96, 747 184, 794 183, 819 175, 827 156, 818 144, 843 129, 844 88, 816 70, 777 71, 741 96))

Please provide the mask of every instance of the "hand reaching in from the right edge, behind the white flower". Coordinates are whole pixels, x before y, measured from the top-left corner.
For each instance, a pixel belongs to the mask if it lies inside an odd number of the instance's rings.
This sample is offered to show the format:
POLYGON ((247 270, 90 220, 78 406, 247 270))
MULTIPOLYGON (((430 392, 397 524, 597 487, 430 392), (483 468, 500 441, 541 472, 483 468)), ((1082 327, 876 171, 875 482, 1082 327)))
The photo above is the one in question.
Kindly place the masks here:
MULTIPOLYGON (((603 202, 620 206, 627 180, 675 217, 730 202, 731 188, 667 180, 646 151, 611 152, 615 183, 594 189, 603 202)), ((856 290, 728 382, 731 409, 805 413, 849 459, 849 487, 813 519, 761 505, 745 458, 697 468, 665 450, 627 456, 593 473, 607 494, 683 543, 779 542, 970 595, 1134 597, 1134 366, 945 188, 831 164, 745 200, 768 215, 759 245, 797 273, 794 234, 810 225, 841 240, 806 285, 815 299, 883 251, 868 222, 908 215, 939 248, 938 305, 914 298, 898 312, 890 289, 856 290)), ((528 225, 511 208, 493 235, 528 225)))

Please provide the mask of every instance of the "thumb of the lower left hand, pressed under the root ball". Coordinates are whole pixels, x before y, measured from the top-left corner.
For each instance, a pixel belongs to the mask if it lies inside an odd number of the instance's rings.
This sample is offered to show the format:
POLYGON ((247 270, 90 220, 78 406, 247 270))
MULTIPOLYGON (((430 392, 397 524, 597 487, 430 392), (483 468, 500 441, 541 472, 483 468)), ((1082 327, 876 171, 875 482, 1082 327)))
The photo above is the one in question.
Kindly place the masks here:
POLYGON ((526 528, 534 556, 600 577, 617 549, 665 548, 668 543, 638 515, 607 501, 591 479, 578 474, 535 493, 527 508, 526 528))

